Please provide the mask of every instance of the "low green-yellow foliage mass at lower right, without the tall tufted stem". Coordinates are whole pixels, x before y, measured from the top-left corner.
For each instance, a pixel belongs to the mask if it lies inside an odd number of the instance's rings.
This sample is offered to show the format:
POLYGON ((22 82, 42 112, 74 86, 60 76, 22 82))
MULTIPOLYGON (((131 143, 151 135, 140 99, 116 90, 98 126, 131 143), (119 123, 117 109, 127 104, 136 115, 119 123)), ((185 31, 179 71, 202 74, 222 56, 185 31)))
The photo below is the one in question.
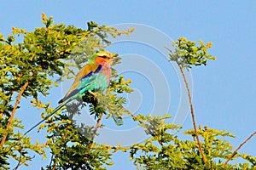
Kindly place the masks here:
MULTIPOLYGON (((161 120, 162 123, 154 123, 154 135, 146 139, 143 143, 132 144, 130 159, 137 167, 142 169, 253 169, 255 167, 255 157, 246 154, 236 154, 232 159, 241 157, 250 162, 239 165, 228 164, 225 167, 224 161, 232 153, 232 146, 227 138, 235 136, 224 130, 211 129, 209 127, 198 128, 198 133, 203 140, 202 148, 207 156, 207 164, 204 164, 198 144, 195 141, 194 129, 184 131, 184 134, 191 139, 179 139, 171 132, 176 132, 177 125, 166 123, 166 118, 170 116, 137 116, 137 119, 152 124, 152 121, 161 120), (169 132, 168 132, 169 131, 169 132), (171 131, 171 132, 170 132, 171 131), (158 141, 162 142, 162 145, 158 141)), ((152 125, 151 125, 152 126, 152 125)), ((143 125, 145 130, 148 126, 143 125)))

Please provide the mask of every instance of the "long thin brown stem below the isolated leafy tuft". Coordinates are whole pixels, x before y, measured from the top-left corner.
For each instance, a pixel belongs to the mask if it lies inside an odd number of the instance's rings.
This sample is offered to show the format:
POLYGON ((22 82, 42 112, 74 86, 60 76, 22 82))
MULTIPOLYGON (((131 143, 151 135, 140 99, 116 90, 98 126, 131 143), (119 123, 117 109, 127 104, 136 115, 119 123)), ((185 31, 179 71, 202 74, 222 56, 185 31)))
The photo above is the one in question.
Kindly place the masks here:
POLYGON ((192 103, 192 97, 191 97, 191 94, 190 94, 189 83, 188 83, 187 78, 186 78, 186 76, 184 74, 183 66, 182 65, 178 65, 178 66, 179 66, 180 71, 181 71, 181 73, 183 75, 183 80, 185 82, 185 85, 186 85, 186 88, 187 88, 187 91, 188 91, 188 95, 189 95, 190 112, 191 112, 191 116, 192 116, 194 130, 195 130, 195 137, 196 137, 196 140, 197 140, 197 143, 198 143, 198 149, 199 149, 199 151, 201 153, 201 156, 203 158, 204 163, 207 164, 207 158, 206 158, 203 150, 201 149, 201 142, 200 142, 197 130, 196 130, 195 113, 194 113, 194 109, 193 109, 193 103, 192 103))

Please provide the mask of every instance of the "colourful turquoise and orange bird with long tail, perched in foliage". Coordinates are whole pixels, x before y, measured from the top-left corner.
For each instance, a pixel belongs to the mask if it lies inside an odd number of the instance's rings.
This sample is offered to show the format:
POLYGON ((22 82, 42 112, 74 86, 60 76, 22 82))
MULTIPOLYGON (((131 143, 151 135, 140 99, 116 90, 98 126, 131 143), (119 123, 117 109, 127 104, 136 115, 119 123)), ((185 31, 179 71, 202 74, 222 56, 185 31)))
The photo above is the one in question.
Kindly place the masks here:
POLYGON ((94 54, 88 63, 80 69, 75 77, 73 85, 68 90, 67 94, 58 102, 59 105, 55 110, 49 113, 48 116, 45 116, 42 121, 27 130, 26 133, 29 133, 33 128, 38 127, 39 124, 54 115, 55 112, 59 111, 64 105, 67 105, 67 103, 74 99, 82 98, 86 92, 95 96, 92 90, 105 90, 108 88, 111 77, 111 65, 113 60, 117 59, 120 58, 113 57, 112 53, 105 50, 94 54))

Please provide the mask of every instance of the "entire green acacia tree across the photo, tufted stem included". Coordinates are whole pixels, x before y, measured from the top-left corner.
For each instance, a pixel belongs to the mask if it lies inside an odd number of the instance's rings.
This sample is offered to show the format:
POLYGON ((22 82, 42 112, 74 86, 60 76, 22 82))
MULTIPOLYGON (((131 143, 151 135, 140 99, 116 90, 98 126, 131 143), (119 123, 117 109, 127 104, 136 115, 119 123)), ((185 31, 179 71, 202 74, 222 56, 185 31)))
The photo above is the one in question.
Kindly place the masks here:
MULTIPOLYGON (((67 110, 57 112, 49 117, 39 129, 47 128, 47 142, 32 144, 28 134, 17 132, 23 128, 22 122, 15 117, 16 111, 22 107, 20 99, 30 98, 32 106, 43 110, 42 117, 47 116, 53 108, 50 103, 42 102, 42 98, 49 95, 49 89, 58 82, 74 77, 74 68, 80 68, 84 61, 90 59, 96 50, 107 47, 111 42, 108 37, 117 37, 122 34, 130 36, 134 29, 118 31, 109 26, 98 26, 95 22, 87 23, 87 30, 64 24, 54 24, 52 17, 42 14, 44 27, 27 32, 24 29, 12 28, 9 37, 0 34, 0 166, 9 169, 10 157, 20 166, 27 166, 32 161, 28 150, 33 150, 43 158, 47 156, 45 150, 50 150, 51 161, 44 169, 106 169, 113 165, 112 155, 120 151, 129 151, 130 159, 137 168, 142 169, 248 169, 256 166, 256 158, 232 151, 230 143, 222 137, 234 137, 231 133, 211 129, 207 126, 197 127, 195 113, 189 93, 191 116, 194 129, 184 131, 191 135, 192 140, 182 140, 170 133, 181 127, 166 123, 170 115, 165 116, 134 116, 122 106, 125 98, 118 94, 131 93, 131 80, 125 80, 113 71, 113 79, 105 93, 96 92, 95 96, 85 94, 83 101, 73 103, 67 110), (23 38, 15 42, 15 37, 23 38), (55 77, 58 77, 55 79, 55 77), (41 100, 40 100, 41 99, 41 100), (83 125, 74 127, 70 116, 79 114, 81 108, 88 105, 90 114, 95 116, 94 127, 83 125), (140 144, 131 144, 130 147, 121 145, 96 144, 94 137, 97 129, 103 127, 102 118, 112 118, 117 125, 122 125, 122 116, 128 114, 139 126, 145 128, 149 138, 140 144), (80 129, 80 130, 79 130, 80 129), (86 135, 84 135, 86 133, 86 135), (85 137, 86 136, 86 137, 85 137), (195 138, 195 140, 193 140, 195 138), (247 162, 232 165, 230 159, 244 158, 247 162)), ((175 62, 180 71, 192 66, 206 65, 208 59, 215 59, 207 54, 207 48, 212 43, 196 46, 195 42, 186 38, 179 38, 173 43, 174 51, 170 51, 170 60, 175 62)), ((117 63, 119 64, 119 63, 117 63)), ((253 133, 255 134, 255 133, 253 133)), ((249 137, 253 137, 253 134, 249 137)), ((242 145, 242 144, 241 144, 242 145)))

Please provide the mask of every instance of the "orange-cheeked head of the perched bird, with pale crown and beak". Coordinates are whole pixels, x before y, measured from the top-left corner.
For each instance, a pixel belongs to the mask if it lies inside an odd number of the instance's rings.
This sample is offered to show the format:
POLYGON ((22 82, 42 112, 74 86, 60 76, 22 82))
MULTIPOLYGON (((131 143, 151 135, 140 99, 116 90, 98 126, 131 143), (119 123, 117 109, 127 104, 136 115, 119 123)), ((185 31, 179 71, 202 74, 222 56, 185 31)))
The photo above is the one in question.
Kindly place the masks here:
POLYGON ((113 57, 108 51, 100 51, 95 54, 92 58, 97 65, 111 65, 112 61, 115 59, 120 59, 119 57, 113 57))

